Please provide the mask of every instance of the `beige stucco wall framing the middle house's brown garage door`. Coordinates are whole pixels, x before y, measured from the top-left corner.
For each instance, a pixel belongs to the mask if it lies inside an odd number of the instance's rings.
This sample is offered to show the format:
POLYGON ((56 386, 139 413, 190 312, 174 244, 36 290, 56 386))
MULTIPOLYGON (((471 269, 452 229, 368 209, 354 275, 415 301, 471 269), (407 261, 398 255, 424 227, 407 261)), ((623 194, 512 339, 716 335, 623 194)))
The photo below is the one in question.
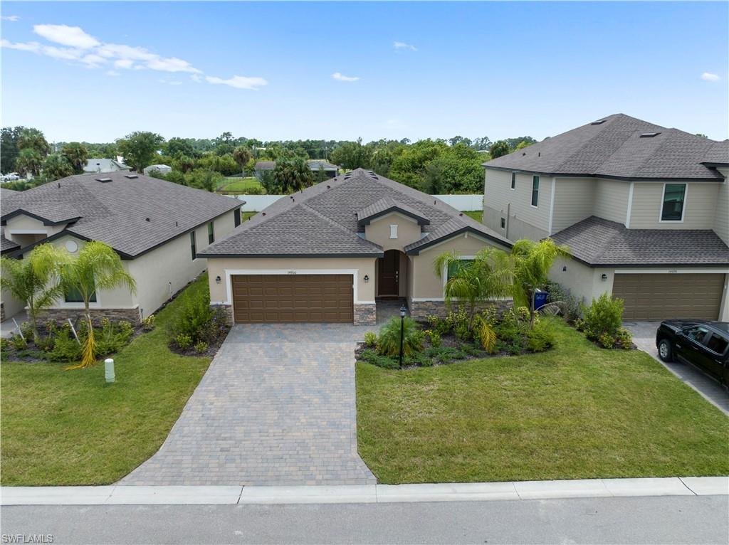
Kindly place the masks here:
POLYGON ((230 298, 229 275, 235 274, 324 274, 327 271, 342 271, 341 274, 356 274, 355 303, 375 302, 375 257, 338 257, 338 258, 210 258, 208 259, 208 282, 210 301, 213 304, 232 303, 230 298), (241 273, 244 271, 244 273, 241 273), (352 272, 350 272, 352 271, 352 272), (364 276, 369 281, 364 281, 364 276), (215 278, 219 276, 221 282, 215 278))

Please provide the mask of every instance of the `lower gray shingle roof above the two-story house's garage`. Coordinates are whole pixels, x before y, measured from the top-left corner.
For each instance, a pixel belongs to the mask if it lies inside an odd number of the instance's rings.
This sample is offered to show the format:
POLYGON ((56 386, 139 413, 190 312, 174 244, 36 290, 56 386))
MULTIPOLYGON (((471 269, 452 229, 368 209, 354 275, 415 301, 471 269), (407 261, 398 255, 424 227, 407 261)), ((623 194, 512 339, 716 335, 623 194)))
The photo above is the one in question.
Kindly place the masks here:
POLYGON ((590 216, 552 238, 593 266, 729 264, 729 247, 712 230, 626 229, 590 216))

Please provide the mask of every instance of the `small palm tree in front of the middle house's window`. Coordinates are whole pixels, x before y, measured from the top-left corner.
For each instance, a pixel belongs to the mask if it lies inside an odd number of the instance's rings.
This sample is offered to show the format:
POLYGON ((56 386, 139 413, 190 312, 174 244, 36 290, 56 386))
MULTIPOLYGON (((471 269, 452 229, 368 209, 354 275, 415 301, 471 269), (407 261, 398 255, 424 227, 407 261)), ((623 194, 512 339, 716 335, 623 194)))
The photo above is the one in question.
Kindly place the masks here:
POLYGON ((445 282, 445 304, 453 299, 465 301, 469 306, 469 329, 473 327, 477 305, 512 294, 513 266, 510 256, 497 248, 483 248, 474 259, 464 261, 456 251, 449 251, 434 261, 435 274, 445 282))

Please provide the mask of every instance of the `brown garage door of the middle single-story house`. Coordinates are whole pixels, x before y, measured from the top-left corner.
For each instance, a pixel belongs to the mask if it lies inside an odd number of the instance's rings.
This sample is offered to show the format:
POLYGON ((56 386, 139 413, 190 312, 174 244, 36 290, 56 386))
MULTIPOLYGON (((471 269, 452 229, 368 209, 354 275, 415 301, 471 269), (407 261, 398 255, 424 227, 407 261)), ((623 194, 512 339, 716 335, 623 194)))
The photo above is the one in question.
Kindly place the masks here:
POLYGON ((233 313, 244 324, 349 322, 352 275, 235 275, 233 313))

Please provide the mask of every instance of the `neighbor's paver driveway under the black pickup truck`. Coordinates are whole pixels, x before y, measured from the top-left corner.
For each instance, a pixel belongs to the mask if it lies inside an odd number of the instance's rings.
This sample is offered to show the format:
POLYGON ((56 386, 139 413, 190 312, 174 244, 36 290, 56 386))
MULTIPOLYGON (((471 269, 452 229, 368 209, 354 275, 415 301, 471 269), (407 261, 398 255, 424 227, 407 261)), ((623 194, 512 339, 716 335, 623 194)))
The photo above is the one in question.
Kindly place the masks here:
MULTIPOLYGON (((660 361, 660 358, 658 358, 658 348, 655 346, 655 332, 659 325, 660 322, 623 323, 623 326, 628 328, 633 334, 633 342, 636 346, 644 352, 649 353, 658 361, 660 361)), ((716 407, 719 407, 725 415, 729 415, 729 395, 716 380, 707 377, 703 372, 690 364, 683 364, 678 361, 670 364, 664 361, 660 361, 660 363, 679 377, 683 383, 689 385, 716 407)))

